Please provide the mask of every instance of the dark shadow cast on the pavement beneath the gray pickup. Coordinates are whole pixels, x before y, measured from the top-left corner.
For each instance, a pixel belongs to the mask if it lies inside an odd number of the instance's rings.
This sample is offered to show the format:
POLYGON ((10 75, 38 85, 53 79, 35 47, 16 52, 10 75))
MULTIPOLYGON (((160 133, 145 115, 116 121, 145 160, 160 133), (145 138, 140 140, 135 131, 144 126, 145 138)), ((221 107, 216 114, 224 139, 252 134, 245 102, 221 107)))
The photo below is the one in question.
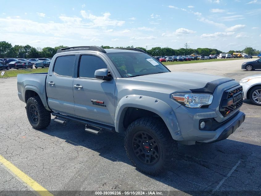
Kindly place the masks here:
MULTIPOLYGON (((104 132, 96 136, 86 133, 84 125, 74 122, 61 125, 53 120, 42 132, 61 138, 71 145, 94 150, 105 159, 132 166, 124 149, 123 134, 104 132)), ((234 134, 237 132, 238 130, 234 134)), ((86 156, 90 155, 86 153, 86 156)), ((132 171, 131 168, 126 170, 126 172, 130 171, 132 171)), ((130 174, 125 173, 125 175, 130 174)), ((261 147, 260 144, 249 144, 231 139, 212 144, 179 145, 177 160, 166 173, 160 176, 150 176, 137 172, 135 175, 141 179, 145 176, 149 177, 149 183, 155 184, 154 187, 161 182, 167 185, 165 190, 180 190, 191 195, 211 195, 215 189, 243 191, 235 192, 234 195, 249 194, 247 191, 251 190, 259 190, 256 193, 260 194, 261 147)), ((161 185, 161 187, 164 186, 161 185)), ((143 190, 147 190, 147 186, 144 186, 143 190)), ((222 193, 215 192, 215 195, 222 193)), ((179 193, 179 195, 183 194, 179 193)))

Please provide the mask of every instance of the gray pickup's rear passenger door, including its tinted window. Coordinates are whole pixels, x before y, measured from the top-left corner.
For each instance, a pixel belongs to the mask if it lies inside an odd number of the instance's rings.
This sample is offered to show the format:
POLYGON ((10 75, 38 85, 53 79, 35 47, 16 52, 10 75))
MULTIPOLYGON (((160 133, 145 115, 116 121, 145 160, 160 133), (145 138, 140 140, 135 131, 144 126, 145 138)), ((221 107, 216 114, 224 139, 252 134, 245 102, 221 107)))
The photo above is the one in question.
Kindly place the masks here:
POLYGON ((49 107, 56 112, 74 115, 73 74, 75 55, 58 56, 46 81, 49 107))

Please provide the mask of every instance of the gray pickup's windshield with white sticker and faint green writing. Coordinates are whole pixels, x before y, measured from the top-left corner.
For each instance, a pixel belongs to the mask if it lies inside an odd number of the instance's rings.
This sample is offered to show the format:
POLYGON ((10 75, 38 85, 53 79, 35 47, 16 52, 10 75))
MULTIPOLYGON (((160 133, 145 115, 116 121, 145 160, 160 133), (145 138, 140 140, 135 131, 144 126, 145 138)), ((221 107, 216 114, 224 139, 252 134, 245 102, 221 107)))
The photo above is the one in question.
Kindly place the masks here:
POLYGON ((107 53, 124 78, 170 72, 164 65, 145 53, 107 53))

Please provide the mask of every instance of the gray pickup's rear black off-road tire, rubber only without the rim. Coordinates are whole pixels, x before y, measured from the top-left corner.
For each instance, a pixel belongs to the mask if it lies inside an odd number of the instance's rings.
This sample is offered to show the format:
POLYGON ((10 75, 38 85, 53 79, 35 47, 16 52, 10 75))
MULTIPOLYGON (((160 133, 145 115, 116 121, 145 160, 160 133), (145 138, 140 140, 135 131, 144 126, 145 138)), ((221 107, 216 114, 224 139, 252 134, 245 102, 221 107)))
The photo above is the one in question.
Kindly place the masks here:
POLYGON ((35 129, 41 129, 47 127, 51 122, 51 112, 44 108, 44 105, 39 96, 30 97, 26 103, 27 118, 35 129), (30 115, 30 106, 34 105, 38 113, 38 121, 34 122, 30 115))

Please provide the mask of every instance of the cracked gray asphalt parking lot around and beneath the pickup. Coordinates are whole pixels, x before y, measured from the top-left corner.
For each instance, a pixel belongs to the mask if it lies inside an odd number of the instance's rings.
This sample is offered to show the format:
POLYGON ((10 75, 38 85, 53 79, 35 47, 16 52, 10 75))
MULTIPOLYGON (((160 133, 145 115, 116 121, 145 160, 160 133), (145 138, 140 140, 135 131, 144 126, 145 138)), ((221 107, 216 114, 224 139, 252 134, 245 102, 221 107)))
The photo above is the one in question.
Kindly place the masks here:
MULTIPOLYGON (((249 60, 253 59, 168 68, 240 81, 261 74, 261 70, 241 70, 242 62, 249 60)), ((61 125, 53 117, 47 128, 33 129, 25 103, 17 96, 16 82, 16 78, 0 79, 0 156, 53 195, 66 194, 61 191, 68 190, 157 190, 170 195, 219 195, 231 191, 234 195, 261 195, 261 107, 248 100, 244 100, 241 109, 246 114, 245 122, 228 139, 207 145, 179 145, 175 165, 155 177, 133 167, 120 134, 96 136, 86 133, 82 124, 61 125)), ((0 195, 18 193, 10 190, 31 188, 0 163, 0 195)))

